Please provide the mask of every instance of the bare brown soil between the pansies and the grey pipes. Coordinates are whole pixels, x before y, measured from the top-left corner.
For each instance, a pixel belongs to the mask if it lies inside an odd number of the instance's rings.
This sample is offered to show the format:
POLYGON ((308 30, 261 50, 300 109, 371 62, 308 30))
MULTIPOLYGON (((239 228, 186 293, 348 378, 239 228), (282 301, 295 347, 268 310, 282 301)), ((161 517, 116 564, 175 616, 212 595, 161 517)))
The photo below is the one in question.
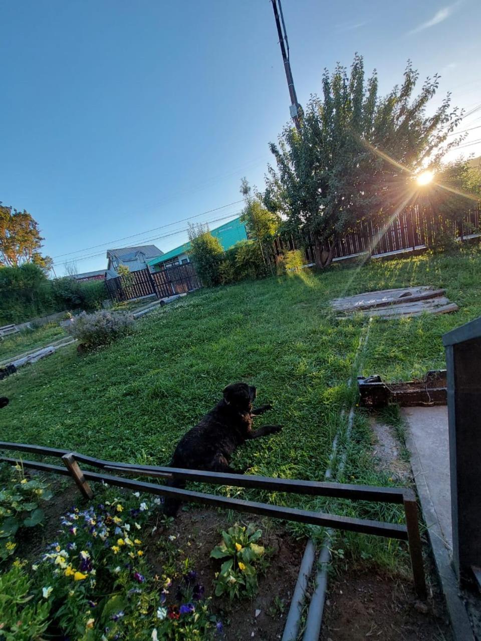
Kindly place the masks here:
MULTIPOLYGON (((213 612, 224 623, 223 639, 226 641, 274 641, 282 636, 285 617, 289 611, 292 592, 296 585, 305 540, 296 541, 285 531, 274 526, 269 519, 256 519, 248 515, 235 514, 228 520, 228 513, 216 510, 180 512, 168 533, 176 538, 176 544, 185 558, 193 562, 199 580, 205 586, 205 594, 213 592, 212 581, 223 560, 210 558, 210 551, 221 540, 221 531, 238 522, 246 525, 255 522, 262 529, 262 545, 271 551, 270 565, 266 574, 259 577, 259 590, 252 601, 241 601, 232 605, 228 599, 214 597, 213 612)), ((162 527, 159 528, 160 534, 162 527)), ((158 536, 154 533, 153 538, 158 536)), ((152 541, 153 542, 153 541, 152 541)), ((152 547, 148 558, 158 574, 162 567, 155 565, 152 547)), ((176 591, 176 581, 171 594, 176 591)))

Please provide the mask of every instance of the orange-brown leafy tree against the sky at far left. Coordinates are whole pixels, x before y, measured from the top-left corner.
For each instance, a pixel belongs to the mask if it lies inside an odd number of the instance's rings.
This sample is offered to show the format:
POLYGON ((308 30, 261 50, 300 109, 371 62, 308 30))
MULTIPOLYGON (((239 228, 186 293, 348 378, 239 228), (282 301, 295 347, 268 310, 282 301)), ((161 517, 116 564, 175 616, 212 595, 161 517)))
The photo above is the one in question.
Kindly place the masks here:
POLYGON ((52 259, 39 251, 42 240, 38 223, 30 213, 17 212, 0 203, 0 265, 19 267, 23 263, 35 263, 42 269, 50 269, 52 259))

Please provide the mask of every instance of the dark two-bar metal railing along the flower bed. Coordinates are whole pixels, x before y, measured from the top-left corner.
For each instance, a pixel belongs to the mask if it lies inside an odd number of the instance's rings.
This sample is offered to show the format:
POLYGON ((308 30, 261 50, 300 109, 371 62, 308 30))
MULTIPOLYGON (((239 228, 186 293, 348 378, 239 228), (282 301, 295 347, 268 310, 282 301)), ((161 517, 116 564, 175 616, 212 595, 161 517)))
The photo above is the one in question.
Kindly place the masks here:
POLYGON ((89 481, 97 481, 123 487, 139 492, 148 492, 160 496, 174 497, 181 501, 193 501, 212 505, 237 512, 248 512, 257 515, 272 517, 274 519, 291 520, 307 523, 325 528, 344 529, 362 534, 380 537, 396 538, 407 541, 414 578, 414 587, 419 598, 426 598, 426 581, 423 566, 421 537, 419 535, 418 504, 416 495, 410 488, 375 487, 373 485, 352 485, 344 483, 327 483, 318 481, 300 481, 294 479, 269 478, 266 476, 250 476, 248 474, 226 474, 224 472, 210 472, 204 470, 189 470, 176 467, 158 467, 153 465, 135 465, 131 463, 115 463, 112 461, 85 456, 77 452, 42 445, 24 443, 10 443, 0 441, 0 450, 16 450, 39 454, 41 456, 55 456, 61 458, 63 466, 51 465, 38 461, 24 460, 22 458, 8 458, 0 456, 0 462, 21 463, 23 467, 53 472, 71 476, 78 486, 81 494, 92 499, 93 492, 89 481), (323 512, 312 512, 298 508, 289 508, 269 503, 257 503, 243 499, 232 499, 205 492, 184 490, 168 485, 146 483, 137 479, 128 479, 124 476, 99 474, 90 470, 81 470, 79 463, 109 471, 122 472, 131 476, 148 476, 151 478, 183 479, 185 481, 201 481, 212 485, 231 485, 233 487, 256 488, 290 494, 305 494, 311 496, 325 496, 351 501, 376 501, 378 503, 402 504, 405 513, 405 524, 389 523, 369 519, 354 519, 323 512))

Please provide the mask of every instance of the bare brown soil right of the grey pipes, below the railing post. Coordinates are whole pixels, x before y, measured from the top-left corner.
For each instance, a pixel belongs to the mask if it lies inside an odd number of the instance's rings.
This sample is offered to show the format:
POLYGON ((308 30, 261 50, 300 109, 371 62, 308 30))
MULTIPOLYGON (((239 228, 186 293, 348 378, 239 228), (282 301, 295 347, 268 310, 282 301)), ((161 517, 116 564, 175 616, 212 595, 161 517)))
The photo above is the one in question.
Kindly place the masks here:
POLYGON ((329 583, 321 641, 451 641, 437 587, 426 604, 410 583, 376 573, 348 572, 329 583))

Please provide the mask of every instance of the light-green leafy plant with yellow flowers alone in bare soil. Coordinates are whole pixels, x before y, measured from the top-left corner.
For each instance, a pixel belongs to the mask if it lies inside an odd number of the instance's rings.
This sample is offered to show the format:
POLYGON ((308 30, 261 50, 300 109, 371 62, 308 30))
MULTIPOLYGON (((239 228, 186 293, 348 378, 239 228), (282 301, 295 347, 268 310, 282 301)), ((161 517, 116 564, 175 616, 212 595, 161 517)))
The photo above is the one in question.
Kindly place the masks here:
POLYGON ((223 531, 222 541, 210 553, 216 559, 230 557, 222 564, 214 581, 217 597, 227 594, 233 601, 256 594, 258 569, 255 566, 266 551, 257 544, 261 537, 262 531, 255 529, 253 524, 247 528, 235 524, 223 531))

